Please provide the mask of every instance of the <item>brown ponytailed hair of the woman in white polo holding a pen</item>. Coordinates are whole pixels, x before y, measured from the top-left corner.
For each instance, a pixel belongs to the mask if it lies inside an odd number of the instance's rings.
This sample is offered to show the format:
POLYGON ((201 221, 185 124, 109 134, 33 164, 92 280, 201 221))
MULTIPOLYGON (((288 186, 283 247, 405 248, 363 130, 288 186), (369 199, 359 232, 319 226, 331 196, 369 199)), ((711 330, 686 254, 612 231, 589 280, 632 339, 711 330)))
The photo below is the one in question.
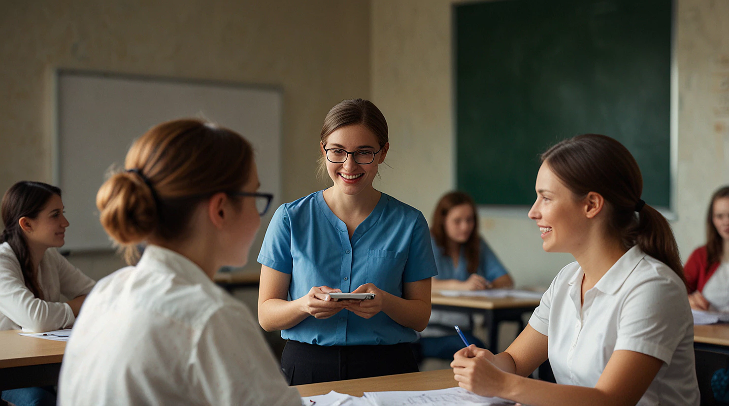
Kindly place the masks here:
POLYGON ((625 249, 639 246, 668 265, 685 283, 671 226, 655 208, 641 203, 643 176, 623 144, 608 136, 583 134, 548 149, 542 154, 542 162, 578 198, 588 192, 602 195, 608 203, 608 228, 620 238, 625 249))

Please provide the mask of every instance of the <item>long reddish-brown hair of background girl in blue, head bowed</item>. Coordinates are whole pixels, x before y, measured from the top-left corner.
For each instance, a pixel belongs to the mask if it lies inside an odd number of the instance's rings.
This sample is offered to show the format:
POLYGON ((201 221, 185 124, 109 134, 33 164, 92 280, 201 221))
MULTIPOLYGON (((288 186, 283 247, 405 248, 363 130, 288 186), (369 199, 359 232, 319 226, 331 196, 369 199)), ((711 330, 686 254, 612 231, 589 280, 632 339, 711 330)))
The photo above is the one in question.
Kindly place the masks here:
POLYGON ((463 246, 466 256, 466 269, 468 273, 476 273, 480 257, 480 241, 478 239, 478 212, 476 211, 476 203, 471 196, 464 192, 450 192, 443 195, 443 198, 438 200, 438 204, 433 211, 430 234, 433 236, 435 244, 443 249, 446 255, 453 255, 453 252, 448 251, 449 244, 448 235, 445 233, 445 217, 448 216, 448 211, 451 211, 451 208, 461 206, 462 204, 471 206, 473 211, 473 230, 471 231, 471 235, 468 236, 468 240, 463 243, 463 246))

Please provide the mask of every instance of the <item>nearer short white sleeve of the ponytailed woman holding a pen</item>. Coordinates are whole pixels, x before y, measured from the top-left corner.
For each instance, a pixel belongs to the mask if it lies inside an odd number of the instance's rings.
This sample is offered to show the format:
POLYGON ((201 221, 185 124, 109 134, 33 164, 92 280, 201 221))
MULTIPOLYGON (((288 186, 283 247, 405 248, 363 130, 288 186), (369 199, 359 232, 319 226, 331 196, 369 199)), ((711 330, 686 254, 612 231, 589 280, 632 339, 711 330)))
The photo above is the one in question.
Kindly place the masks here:
POLYGON ((669 279, 650 279, 625 297, 615 351, 635 351, 669 364, 689 327, 693 317, 683 286, 669 279))

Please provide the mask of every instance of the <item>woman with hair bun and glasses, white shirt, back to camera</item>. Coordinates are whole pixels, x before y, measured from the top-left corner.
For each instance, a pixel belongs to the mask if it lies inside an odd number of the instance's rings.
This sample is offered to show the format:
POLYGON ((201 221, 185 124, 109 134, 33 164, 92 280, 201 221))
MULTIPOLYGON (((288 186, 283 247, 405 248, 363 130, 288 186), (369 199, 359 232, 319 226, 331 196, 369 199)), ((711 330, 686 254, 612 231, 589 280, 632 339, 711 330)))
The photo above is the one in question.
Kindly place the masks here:
POLYGON ((174 120, 134 141, 101 186, 106 233, 136 266, 98 282, 61 366, 59 405, 301 405, 248 309, 213 283, 242 266, 271 195, 251 145, 174 120))

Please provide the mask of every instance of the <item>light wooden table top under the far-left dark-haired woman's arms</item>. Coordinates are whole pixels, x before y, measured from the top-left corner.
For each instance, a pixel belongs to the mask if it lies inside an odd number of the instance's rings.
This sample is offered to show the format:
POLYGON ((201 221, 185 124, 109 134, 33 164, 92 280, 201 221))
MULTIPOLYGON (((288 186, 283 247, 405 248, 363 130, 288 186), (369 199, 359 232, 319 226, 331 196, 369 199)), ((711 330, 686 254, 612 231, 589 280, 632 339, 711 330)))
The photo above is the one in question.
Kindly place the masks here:
POLYGON ((56 364, 63 359, 65 341, 19 335, 18 330, 0 331, 0 368, 56 364))

